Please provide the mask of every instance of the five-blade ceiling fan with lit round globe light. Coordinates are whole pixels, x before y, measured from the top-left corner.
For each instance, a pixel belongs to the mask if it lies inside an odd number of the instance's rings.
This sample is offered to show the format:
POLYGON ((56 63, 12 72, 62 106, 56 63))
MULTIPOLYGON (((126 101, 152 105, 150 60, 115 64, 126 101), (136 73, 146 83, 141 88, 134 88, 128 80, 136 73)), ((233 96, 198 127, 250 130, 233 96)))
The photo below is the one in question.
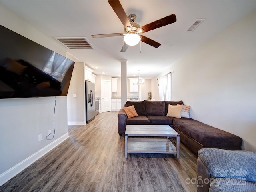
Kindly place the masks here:
POLYGON ((135 14, 130 14, 127 17, 119 0, 108 0, 108 3, 113 8, 114 12, 116 12, 116 15, 124 25, 124 33, 122 32, 122 33, 98 34, 98 35, 92 35, 92 37, 102 38, 102 37, 124 36, 124 45, 121 49, 121 52, 126 51, 129 46, 134 46, 138 44, 140 41, 146 44, 149 44, 155 48, 158 48, 161 45, 160 43, 150 38, 147 38, 146 36, 143 36, 141 34, 156 28, 160 28, 162 26, 166 26, 168 24, 172 24, 177 20, 175 14, 171 14, 169 16, 166 16, 162 19, 156 20, 154 22, 151 22, 141 27, 139 24, 134 23, 134 21, 136 20, 135 14), (129 42, 129 40, 131 40, 131 42, 129 42))

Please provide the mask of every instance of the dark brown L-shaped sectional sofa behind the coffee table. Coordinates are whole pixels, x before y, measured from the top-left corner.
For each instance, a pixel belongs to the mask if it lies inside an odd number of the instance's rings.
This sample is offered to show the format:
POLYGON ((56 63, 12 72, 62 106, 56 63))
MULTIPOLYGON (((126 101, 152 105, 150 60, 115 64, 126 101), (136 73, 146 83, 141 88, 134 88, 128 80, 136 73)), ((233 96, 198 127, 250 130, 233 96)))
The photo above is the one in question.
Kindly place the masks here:
POLYGON ((192 118, 167 117, 168 105, 183 104, 182 101, 127 101, 139 116, 127 118, 124 109, 118 112, 118 133, 125 133, 126 125, 170 125, 180 134, 180 141, 197 154, 201 148, 241 150, 242 139, 234 134, 209 126, 192 118))

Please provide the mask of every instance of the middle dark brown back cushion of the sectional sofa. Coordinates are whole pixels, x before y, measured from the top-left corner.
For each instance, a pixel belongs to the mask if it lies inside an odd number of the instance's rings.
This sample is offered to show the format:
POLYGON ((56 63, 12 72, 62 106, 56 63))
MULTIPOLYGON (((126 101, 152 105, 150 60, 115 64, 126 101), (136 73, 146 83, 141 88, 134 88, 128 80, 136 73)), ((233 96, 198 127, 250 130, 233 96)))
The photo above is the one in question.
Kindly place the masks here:
POLYGON ((164 116, 165 102, 164 101, 147 101, 144 100, 146 116, 158 115, 164 116))

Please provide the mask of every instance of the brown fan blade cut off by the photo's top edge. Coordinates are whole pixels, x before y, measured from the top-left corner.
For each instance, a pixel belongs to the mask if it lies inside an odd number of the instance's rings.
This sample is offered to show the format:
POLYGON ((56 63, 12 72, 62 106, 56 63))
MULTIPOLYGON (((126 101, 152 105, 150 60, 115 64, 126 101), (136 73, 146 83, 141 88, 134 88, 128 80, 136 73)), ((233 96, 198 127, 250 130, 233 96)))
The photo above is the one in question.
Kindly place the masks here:
POLYGON ((129 26, 131 29, 132 25, 131 25, 130 20, 128 19, 126 13, 124 12, 124 8, 122 7, 120 1, 119 0, 108 0, 108 3, 110 4, 110 6, 114 10, 114 12, 116 12, 116 15, 118 16, 118 18, 120 19, 120 21, 122 22, 124 27, 127 28, 129 26))

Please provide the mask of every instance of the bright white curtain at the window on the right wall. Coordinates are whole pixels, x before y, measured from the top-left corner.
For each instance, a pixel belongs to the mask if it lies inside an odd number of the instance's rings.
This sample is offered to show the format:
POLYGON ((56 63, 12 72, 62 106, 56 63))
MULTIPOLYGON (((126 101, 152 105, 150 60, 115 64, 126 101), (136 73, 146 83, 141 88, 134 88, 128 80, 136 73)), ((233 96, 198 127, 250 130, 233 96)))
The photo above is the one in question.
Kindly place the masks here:
POLYGON ((171 100, 172 74, 168 73, 159 78, 159 97, 161 101, 171 100))

